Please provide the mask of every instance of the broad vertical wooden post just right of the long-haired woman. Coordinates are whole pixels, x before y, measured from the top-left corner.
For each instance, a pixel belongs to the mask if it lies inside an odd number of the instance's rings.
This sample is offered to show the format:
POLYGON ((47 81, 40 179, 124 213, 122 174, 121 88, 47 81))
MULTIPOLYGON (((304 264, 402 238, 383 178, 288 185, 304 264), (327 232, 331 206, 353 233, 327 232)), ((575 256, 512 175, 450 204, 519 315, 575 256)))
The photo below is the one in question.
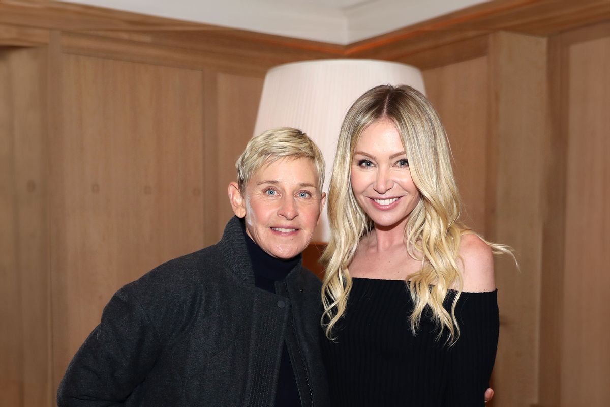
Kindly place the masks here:
POLYGON ((539 377, 540 264, 545 140, 549 137, 545 38, 499 32, 489 48, 490 130, 497 146, 492 240, 511 245, 496 262, 500 344, 493 405, 537 402, 539 377))

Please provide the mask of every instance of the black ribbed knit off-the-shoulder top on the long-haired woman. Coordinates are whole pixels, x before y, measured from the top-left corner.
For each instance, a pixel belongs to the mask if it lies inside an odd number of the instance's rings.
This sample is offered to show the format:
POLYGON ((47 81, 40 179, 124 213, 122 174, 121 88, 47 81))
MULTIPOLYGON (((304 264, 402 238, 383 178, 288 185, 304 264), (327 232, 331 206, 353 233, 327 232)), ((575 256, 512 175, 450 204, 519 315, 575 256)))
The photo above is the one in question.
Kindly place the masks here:
MULTIPOLYGON (((453 300, 450 292, 446 308, 453 300)), ((453 347, 427 317, 414 335, 404 281, 354 278, 345 318, 323 339, 333 406, 484 406, 498 343, 497 292, 464 292, 453 347)))

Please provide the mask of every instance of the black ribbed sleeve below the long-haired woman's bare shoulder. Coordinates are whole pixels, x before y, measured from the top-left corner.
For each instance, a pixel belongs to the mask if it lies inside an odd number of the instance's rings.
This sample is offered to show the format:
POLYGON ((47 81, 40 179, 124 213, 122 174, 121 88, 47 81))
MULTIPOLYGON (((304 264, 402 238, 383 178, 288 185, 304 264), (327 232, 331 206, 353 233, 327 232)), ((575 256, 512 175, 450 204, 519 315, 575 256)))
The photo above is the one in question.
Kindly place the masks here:
POLYGON ((450 349, 451 373, 445 405, 484 406, 498 347, 497 291, 462 293, 456 318, 460 336, 450 349))

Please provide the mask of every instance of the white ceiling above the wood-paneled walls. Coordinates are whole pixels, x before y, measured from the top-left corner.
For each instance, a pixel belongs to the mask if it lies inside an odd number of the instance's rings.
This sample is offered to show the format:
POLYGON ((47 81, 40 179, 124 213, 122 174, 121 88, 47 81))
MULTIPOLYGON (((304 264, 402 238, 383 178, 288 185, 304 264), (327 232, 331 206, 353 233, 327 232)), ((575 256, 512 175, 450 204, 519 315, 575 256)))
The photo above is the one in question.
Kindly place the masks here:
MULTIPOLYGON (((64 0, 60 0, 64 1, 64 0)), ((71 0, 340 45, 489 0, 71 0)))

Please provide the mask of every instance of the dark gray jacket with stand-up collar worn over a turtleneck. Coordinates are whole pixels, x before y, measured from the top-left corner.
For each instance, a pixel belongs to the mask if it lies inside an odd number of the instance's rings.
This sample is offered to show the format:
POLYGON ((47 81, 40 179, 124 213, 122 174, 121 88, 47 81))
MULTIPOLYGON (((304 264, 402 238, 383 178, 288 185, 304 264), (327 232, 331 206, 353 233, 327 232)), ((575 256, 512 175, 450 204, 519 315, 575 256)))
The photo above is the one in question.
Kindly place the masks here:
POLYGON ((298 264, 254 287, 238 218, 220 242, 127 284, 63 376, 67 406, 273 406, 284 340, 303 406, 328 405, 320 281, 298 264))

